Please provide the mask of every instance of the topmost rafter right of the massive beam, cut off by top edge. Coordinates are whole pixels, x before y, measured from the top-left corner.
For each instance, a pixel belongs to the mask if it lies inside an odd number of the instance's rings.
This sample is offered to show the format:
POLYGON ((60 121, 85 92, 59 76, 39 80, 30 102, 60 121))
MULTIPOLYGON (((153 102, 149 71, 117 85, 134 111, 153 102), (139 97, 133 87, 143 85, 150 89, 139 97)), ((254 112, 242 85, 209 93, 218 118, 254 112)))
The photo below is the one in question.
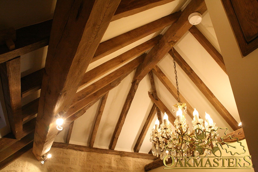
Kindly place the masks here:
POLYGON ((121 0, 111 21, 164 5, 174 0, 121 0))

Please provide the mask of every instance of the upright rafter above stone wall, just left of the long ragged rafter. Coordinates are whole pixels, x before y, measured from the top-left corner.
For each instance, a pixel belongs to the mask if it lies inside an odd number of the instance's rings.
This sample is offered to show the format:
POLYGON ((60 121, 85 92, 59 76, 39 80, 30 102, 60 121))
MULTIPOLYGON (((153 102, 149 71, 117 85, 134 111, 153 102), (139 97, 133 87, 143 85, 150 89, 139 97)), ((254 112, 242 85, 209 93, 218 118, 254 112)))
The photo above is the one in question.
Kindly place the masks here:
POLYGON ((97 132, 98 132, 98 129, 99 129, 99 123, 100 123, 102 114, 104 112, 104 108, 105 108, 107 99, 108 99, 108 93, 106 93, 102 97, 102 100, 100 102, 100 106, 99 106, 99 110, 98 110, 98 113, 97 113, 97 117, 95 119, 94 126, 93 126, 93 129, 92 129, 92 132, 91 132, 91 136, 90 136, 89 147, 93 147, 94 146, 95 138, 96 138, 96 135, 97 135, 97 132))

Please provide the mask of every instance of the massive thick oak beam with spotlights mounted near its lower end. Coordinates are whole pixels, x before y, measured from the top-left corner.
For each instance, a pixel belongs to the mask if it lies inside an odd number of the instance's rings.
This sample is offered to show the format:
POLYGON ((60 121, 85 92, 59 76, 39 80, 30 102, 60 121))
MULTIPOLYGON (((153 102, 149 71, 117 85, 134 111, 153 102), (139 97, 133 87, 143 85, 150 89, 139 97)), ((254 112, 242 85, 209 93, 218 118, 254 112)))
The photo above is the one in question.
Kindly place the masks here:
POLYGON ((81 71, 86 71, 119 3, 57 1, 33 144, 38 160, 50 150, 57 134, 55 116, 69 109, 84 75, 81 71))

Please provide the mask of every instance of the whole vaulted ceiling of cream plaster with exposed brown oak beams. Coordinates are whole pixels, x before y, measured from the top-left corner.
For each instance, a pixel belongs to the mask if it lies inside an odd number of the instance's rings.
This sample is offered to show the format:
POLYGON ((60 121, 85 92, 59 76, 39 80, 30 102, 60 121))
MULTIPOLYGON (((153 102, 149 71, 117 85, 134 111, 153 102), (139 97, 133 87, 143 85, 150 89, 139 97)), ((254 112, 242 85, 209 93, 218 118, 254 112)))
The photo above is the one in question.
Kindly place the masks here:
MULTIPOLYGON (((27 8, 13 3, 1 8, 27 8)), ((162 121, 164 112, 175 119, 170 42, 189 125, 196 108, 230 132, 240 129, 204 0, 46 1, 24 16, 16 13, 6 12, 0 28, 16 29, 15 49, 0 47, 1 166, 32 146, 40 160, 54 141, 147 154, 155 119, 162 121), (188 22, 193 12, 203 15, 199 25, 188 22), (62 110, 66 120, 58 132, 62 110)))

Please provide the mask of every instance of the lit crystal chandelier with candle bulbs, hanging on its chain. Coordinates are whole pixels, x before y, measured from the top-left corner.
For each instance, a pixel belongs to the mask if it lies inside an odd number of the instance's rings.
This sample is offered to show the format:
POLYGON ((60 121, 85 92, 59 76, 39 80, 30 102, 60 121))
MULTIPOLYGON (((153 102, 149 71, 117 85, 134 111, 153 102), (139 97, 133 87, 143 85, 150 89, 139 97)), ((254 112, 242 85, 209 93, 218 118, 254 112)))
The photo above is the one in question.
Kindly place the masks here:
MULTIPOLYGON (((174 70, 176 75, 176 66, 174 60, 174 51, 172 47, 172 57, 174 62, 174 70)), ((206 112, 206 120, 199 118, 199 113, 196 109, 193 111, 193 130, 190 131, 188 124, 186 124, 185 114, 187 113, 186 103, 180 102, 179 89, 176 78, 176 87, 178 95, 178 103, 173 106, 172 112, 176 112, 176 119, 174 121, 174 131, 171 128, 172 124, 168 121, 166 112, 164 113, 164 122, 159 126, 159 120, 155 122, 155 127, 152 129, 150 134, 150 141, 152 142, 152 154, 159 156, 163 160, 166 157, 172 156, 174 162, 178 158, 189 158, 194 157, 199 160, 199 156, 210 156, 214 154, 217 157, 221 156, 220 144, 218 144, 218 127, 211 119, 210 115, 206 112), (219 153, 218 153, 219 152, 219 153), (167 156, 170 155, 170 156, 167 156)), ((192 158, 193 161, 193 158, 192 158)))

